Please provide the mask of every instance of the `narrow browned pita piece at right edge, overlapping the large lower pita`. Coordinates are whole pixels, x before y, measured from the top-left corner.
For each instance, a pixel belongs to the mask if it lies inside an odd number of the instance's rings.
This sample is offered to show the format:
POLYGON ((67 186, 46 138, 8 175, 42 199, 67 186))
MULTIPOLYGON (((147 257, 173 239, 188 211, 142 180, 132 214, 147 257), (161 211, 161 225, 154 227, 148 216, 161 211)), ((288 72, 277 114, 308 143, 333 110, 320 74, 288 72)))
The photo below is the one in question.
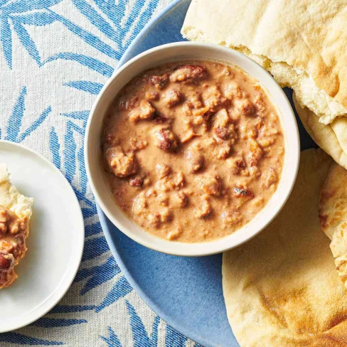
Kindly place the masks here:
POLYGON ((321 190, 319 219, 330 238, 336 270, 347 288, 347 171, 333 164, 321 190))

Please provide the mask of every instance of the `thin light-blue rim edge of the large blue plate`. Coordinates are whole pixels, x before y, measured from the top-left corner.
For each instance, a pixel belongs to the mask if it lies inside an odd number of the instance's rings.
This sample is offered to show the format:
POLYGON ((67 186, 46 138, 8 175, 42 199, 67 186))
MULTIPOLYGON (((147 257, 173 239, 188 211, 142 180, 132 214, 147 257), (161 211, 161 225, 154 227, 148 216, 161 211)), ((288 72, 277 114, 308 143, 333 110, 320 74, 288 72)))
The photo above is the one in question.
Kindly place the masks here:
MULTIPOLYGON (((183 1, 184 0, 173 0, 171 2, 171 4, 169 4, 164 9, 159 11, 159 13, 156 16, 154 16, 154 18, 152 18, 149 21, 149 23, 147 23, 146 26, 144 26, 144 28, 142 28, 142 31, 139 32, 137 37, 134 38, 134 41, 132 41, 132 43, 129 45, 127 50, 125 50, 125 52, 123 53, 122 58, 119 60, 119 62, 117 64, 117 68, 115 70, 120 68, 122 65, 124 65, 124 63, 127 62, 127 60, 129 60, 129 58, 127 58, 127 55, 131 54, 132 50, 134 50, 134 48, 139 44, 139 42, 141 42, 144 39, 144 36, 146 36, 147 31, 149 31, 152 26, 154 26, 159 20, 161 20, 161 18, 163 16, 167 15, 167 13, 169 11, 171 11, 176 6, 179 6, 181 4, 181 2, 183 2, 183 1)), ((148 295, 142 290, 142 288, 139 287, 139 285, 135 281, 132 274, 128 271, 127 267, 124 265, 124 262, 122 261, 122 257, 120 257, 119 253, 117 252, 117 248, 115 247, 114 242, 112 241, 112 236, 111 236, 110 230, 107 226, 108 223, 111 223, 110 220, 107 219, 107 216, 102 211, 102 208, 100 208, 100 205, 98 203, 96 203, 96 205, 97 205, 97 214, 99 215, 100 224, 102 226, 102 231, 103 231, 105 238, 107 240, 107 245, 110 247, 112 255, 113 255, 114 259, 116 260, 117 265, 121 269, 122 274, 124 274, 124 277, 127 279, 127 281, 132 286, 132 288, 137 292, 139 297, 144 301, 144 303, 147 306, 149 306, 149 308, 152 311, 154 311, 154 314, 159 316, 160 319, 162 319, 163 321, 166 322, 166 324, 168 324, 173 329, 178 331, 178 333, 181 333, 183 336, 186 336, 187 338, 191 339, 194 343, 198 343, 201 346, 212 346, 212 345, 210 345, 210 343, 208 341, 203 341, 201 339, 201 336, 196 336, 194 333, 186 330, 185 328, 178 327, 178 326, 176 326, 176 324, 171 324, 170 319, 165 314, 165 312, 162 311, 159 306, 154 304, 154 302, 151 301, 151 299, 149 299, 148 295)), ((122 232, 119 231, 119 233, 122 233, 122 232)), ((127 235, 124 235, 124 236, 128 237, 127 235)), ((140 246, 144 247, 142 245, 140 245, 140 246)))

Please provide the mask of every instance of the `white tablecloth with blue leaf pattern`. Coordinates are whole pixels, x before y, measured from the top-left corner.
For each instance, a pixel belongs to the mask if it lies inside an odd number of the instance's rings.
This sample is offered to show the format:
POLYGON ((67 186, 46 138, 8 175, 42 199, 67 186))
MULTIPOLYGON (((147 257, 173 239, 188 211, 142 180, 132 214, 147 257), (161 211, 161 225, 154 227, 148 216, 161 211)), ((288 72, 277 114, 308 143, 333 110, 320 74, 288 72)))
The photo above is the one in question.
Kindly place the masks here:
MULTIPOLYGON (((83 135, 102 85, 171 0, 0 0, 0 138, 65 174, 85 217, 77 277, 58 306, 0 346, 194 346, 149 309, 107 246, 87 184, 83 135)), ((0 308, 1 310, 1 308, 0 308)))

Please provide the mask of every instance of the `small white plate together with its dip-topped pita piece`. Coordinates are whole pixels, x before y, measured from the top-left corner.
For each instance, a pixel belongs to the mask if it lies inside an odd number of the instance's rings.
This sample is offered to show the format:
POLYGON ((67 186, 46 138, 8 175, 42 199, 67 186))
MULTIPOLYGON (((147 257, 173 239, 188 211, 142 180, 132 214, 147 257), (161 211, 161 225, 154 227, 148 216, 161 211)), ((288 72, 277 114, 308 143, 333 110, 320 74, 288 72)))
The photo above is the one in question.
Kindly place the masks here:
POLYGON ((50 161, 4 140, 0 159, 1 335, 60 301, 78 271, 85 228, 73 188, 50 161))

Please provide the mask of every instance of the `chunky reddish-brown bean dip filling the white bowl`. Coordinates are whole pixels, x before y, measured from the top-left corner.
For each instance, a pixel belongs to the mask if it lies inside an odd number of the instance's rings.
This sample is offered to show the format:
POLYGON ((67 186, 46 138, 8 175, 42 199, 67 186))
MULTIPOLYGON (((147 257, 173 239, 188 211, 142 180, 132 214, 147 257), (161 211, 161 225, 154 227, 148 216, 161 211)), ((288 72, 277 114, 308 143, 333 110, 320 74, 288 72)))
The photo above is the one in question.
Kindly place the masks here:
POLYGON ((102 156, 124 213, 147 232, 201 242, 248 223, 277 189, 284 137, 259 82, 237 66, 169 63, 123 87, 102 156))

